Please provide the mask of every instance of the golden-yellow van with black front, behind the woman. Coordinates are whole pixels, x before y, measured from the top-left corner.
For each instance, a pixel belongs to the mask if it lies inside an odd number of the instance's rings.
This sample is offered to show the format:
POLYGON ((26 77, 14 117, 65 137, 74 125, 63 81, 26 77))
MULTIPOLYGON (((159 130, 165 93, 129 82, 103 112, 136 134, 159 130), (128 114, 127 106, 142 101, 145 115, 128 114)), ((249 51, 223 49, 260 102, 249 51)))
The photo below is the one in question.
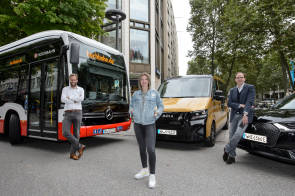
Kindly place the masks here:
POLYGON ((157 139, 206 141, 215 145, 216 133, 228 125, 222 80, 210 75, 171 78, 159 87, 164 112, 157 120, 157 139))

